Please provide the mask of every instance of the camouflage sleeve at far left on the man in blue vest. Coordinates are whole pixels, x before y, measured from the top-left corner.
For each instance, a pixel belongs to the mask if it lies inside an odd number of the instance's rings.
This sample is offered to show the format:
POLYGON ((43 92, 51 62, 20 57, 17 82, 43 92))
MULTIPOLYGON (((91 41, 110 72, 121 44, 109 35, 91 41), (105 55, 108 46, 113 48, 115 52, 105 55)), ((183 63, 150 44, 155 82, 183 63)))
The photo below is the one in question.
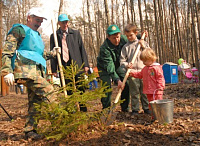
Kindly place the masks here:
POLYGON ((13 28, 6 37, 5 45, 2 51, 2 68, 3 76, 13 73, 11 59, 25 37, 25 31, 21 26, 13 28))

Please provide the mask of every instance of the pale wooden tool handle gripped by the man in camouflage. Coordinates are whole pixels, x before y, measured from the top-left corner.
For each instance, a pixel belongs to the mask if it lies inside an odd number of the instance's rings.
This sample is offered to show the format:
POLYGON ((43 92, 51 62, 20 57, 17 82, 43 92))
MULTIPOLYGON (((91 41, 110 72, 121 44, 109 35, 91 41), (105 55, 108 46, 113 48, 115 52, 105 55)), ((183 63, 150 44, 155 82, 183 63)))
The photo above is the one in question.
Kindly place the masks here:
MULTIPOLYGON (((52 24, 52 29, 53 29, 53 36, 54 36, 55 47, 58 47, 58 38, 57 38, 57 35, 56 35, 56 29, 54 27, 55 25, 54 25, 53 19, 51 19, 51 24, 52 24)), ((58 53, 58 51, 57 51, 56 55, 57 55, 57 59, 58 59, 58 66, 59 66, 59 70, 60 70, 61 82, 62 82, 62 86, 64 88, 64 95, 65 95, 65 97, 67 97, 67 91, 65 90, 65 78, 64 78, 64 74, 63 74, 60 53, 58 53)))

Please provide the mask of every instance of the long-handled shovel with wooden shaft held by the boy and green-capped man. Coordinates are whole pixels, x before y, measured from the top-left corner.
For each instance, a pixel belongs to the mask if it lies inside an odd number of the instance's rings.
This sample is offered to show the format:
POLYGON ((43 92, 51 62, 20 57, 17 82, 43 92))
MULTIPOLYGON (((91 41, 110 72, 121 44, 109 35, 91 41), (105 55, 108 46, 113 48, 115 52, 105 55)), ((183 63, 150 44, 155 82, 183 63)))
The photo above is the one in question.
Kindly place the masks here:
MULTIPOLYGON (((145 33, 142 34, 141 39, 144 39, 144 38, 145 38, 145 33)), ((136 57, 137 57, 137 55, 138 55, 138 52, 139 52, 139 50, 140 50, 140 47, 141 47, 141 45, 138 44, 137 49, 135 50, 135 54, 134 54, 134 56, 133 56, 133 58, 132 58, 132 60, 131 60, 131 63, 134 63, 134 62, 135 62, 135 59, 136 59, 136 57)), ((121 87, 124 87, 124 86, 125 86, 125 83, 126 83, 126 81, 127 81, 127 78, 129 77, 129 72, 130 72, 130 70, 131 70, 131 69, 128 69, 128 70, 127 70, 126 75, 125 75, 125 77, 124 77, 124 79, 123 79, 123 82, 122 82, 122 86, 121 86, 121 87)), ((119 98, 120 98, 120 96, 121 96, 121 93, 122 93, 122 89, 120 88, 119 91, 118 91, 118 94, 117 94, 117 96, 116 96, 116 98, 115 98, 114 104, 113 104, 113 106, 110 108, 110 110, 108 111, 108 116, 105 118, 105 123, 106 123, 106 125, 112 124, 112 122, 116 119, 117 113, 114 113, 113 111, 114 111, 114 109, 115 109, 115 107, 116 107, 116 105, 117 105, 117 103, 118 103, 118 101, 119 101, 119 98)))

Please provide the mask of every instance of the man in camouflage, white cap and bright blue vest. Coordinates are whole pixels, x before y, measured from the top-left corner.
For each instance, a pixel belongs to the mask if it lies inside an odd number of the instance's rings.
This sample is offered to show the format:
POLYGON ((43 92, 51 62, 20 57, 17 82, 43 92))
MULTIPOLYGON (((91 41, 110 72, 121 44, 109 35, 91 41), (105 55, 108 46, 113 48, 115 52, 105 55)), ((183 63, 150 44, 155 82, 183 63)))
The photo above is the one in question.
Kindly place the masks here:
POLYGON ((42 138, 36 131, 34 116, 37 112, 34 104, 40 104, 46 98, 50 102, 55 100, 53 95, 48 94, 54 89, 45 79, 44 42, 37 31, 44 19, 41 8, 30 9, 27 24, 14 24, 8 32, 2 52, 1 73, 6 84, 13 85, 16 81, 23 83, 28 89, 25 136, 33 140, 42 138))

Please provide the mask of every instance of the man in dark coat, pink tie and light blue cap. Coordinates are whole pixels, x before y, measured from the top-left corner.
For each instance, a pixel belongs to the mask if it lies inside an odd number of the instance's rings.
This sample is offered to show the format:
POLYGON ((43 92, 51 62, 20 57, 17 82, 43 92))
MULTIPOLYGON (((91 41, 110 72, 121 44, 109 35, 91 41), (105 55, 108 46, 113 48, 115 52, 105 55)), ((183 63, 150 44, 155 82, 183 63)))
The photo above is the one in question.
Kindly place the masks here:
MULTIPOLYGON (((81 34, 78 30, 71 29, 69 26, 69 18, 66 14, 61 14, 58 17, 58 25, 60 28, 56 31, 58 38, 58 46, 61 48, 61 62, 62 65, 70 66, 73 62, 76 62, 79 67, 84 63, 83 69, 87 73, 89 70, 89 63, 85 47, 83 45, 81 34)), ((55 47, 54 36, 50 36, 50 50, 53 50, 55 47)), ((51 70, 52 73, 57 76, 58 61, 57 58, 51 60, 51 70)), ((76 80, 83 72, 80 72, 76 75, 76 80)), ((69 80, 65 80, 65 83, 69 83, 69 80)), ((84 91, 85 89, 79 89, 84 91)), ((68 95, 72 94, 68 91, 68 95)), ((87 108, 83 105, 80 106, 81 111, 87 111, 87 108)))

